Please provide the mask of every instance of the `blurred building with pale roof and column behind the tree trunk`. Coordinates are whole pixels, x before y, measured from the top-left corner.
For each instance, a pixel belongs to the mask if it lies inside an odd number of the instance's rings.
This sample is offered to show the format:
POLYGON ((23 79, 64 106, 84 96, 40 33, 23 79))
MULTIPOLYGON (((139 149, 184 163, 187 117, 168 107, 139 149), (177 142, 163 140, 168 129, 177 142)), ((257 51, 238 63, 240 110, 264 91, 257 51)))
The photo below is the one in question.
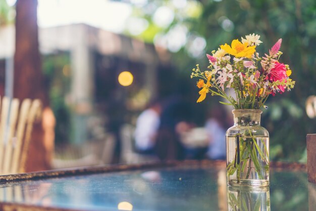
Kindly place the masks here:
MULTIPOLYGON (((14 34, 12 25, 0 30, 1 93, 12 86, 8 76, 12 72, 9 64, 14 55, 14 34)), ((50 99, 54 101, 58 96, 70 113, 68 120, 72 126, 59 130, 68 130, 64 133, 71 134, 68 138, 78 144, 91 138, 91 127, 95 126, 90 121, 93 116, 103 118, 110 131, 118 131, 124 121, 132 120, 124 112, 143 109, 150 98, 157 95, 157 72, 169 66, 170 55, 165 50, 86 24, 40 28, 39 46, 50 99), (58 55, 66 59, 54 60, 58 55), (45 66, 49 58, 53 66, 60 63, 51 71, 45 66), (129 87, 123 87, 118 82, 122 71, 133 75, 134 80, 129 87)), ((51 102, 52 108, 58 107, 58 103, 51 102)))

